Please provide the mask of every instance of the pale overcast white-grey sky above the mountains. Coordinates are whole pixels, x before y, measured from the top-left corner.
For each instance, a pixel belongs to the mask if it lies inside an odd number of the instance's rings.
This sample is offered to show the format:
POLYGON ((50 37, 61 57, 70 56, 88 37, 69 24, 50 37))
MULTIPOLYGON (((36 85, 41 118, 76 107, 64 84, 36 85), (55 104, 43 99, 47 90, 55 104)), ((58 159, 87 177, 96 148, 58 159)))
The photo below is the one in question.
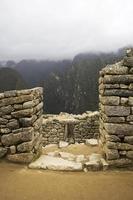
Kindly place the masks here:
POLYGON ((0 60, 133 45, 133 0, 0 0, 0 60))

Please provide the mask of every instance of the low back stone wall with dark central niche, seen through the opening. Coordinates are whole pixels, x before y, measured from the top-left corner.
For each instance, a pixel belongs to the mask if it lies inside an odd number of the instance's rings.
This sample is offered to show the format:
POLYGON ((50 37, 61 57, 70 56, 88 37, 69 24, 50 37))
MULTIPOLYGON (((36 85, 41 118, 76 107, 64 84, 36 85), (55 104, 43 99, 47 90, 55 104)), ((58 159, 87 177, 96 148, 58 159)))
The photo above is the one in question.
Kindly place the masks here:
POLYGON ((50 143, 56 144, 61 140, 81 143, 86 139, 98 137, 99 113, 44 115, 42 127, 43 146, 50 143))

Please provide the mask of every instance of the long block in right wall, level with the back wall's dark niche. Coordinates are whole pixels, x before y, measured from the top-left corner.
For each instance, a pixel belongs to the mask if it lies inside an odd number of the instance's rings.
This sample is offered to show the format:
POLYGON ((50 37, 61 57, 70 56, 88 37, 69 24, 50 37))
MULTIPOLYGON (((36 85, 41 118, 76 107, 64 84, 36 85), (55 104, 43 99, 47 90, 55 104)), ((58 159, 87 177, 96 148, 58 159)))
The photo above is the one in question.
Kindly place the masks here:
POLYGON ((105 123, 105 129, 112 135, 133 135, 133 125, 105 123))

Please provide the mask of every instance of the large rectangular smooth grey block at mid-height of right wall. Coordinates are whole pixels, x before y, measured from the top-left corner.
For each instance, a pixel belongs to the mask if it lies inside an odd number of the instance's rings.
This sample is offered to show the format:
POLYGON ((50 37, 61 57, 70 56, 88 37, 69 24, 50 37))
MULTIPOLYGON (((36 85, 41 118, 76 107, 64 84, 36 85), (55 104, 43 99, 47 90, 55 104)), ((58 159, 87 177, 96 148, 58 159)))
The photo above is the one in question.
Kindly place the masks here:
POLYGON ((130 114, 130 107, 104 106, 104 111, 107 116, 128 116, 130 114))

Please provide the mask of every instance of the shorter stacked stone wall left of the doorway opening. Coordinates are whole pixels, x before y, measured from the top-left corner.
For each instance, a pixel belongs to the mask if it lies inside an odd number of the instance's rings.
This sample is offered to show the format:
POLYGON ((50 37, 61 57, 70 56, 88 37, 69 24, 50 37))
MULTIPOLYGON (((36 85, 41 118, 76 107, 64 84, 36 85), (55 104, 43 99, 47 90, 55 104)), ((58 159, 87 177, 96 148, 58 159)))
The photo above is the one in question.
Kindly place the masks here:
POLYGON ((42 149, 43 89, 0 94, 0 158, 29 163, 42 149))

